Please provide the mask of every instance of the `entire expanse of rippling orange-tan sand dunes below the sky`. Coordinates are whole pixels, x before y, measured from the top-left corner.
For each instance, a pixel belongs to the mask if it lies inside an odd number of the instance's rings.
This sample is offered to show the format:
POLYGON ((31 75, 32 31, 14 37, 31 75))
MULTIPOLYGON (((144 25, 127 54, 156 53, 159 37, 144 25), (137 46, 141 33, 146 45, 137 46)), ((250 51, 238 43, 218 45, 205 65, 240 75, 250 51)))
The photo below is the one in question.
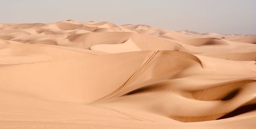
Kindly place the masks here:
POLYGON ((255 128, 256 36, 0 24, 0 128, 255 128))

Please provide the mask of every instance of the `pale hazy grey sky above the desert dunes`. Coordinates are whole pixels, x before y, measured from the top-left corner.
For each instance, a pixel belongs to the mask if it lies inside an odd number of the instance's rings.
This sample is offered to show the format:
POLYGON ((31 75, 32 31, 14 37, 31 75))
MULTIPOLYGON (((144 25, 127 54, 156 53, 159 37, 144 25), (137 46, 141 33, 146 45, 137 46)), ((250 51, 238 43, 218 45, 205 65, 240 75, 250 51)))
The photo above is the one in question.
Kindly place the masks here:
POLYGON ((256 0, 2 0, 0 23, 108 21, 201 33, 256 34, 256 0))

